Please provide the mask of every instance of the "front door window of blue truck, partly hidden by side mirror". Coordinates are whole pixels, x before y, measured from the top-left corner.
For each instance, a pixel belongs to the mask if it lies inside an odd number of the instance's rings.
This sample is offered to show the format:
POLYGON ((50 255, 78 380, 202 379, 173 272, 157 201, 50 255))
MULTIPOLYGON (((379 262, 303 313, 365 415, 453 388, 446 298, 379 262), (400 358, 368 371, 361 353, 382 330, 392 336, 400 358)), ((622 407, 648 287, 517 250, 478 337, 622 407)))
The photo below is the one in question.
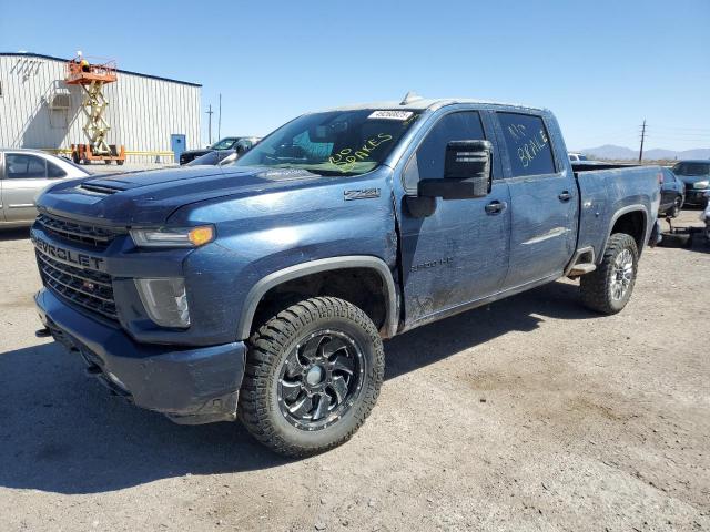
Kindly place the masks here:
MULTIPOLYGON (((480 116, 477 112, 466 111, 447 114, 429 131, 416 153, 418 176, 423 180, 444 177, 446 145, 450 141, 479 141, 486 139, 480 116)), ((416 187, 417 175, 405 172, 405 186, 416 187), (414 181, 414 183, 412 183, 414 181)))

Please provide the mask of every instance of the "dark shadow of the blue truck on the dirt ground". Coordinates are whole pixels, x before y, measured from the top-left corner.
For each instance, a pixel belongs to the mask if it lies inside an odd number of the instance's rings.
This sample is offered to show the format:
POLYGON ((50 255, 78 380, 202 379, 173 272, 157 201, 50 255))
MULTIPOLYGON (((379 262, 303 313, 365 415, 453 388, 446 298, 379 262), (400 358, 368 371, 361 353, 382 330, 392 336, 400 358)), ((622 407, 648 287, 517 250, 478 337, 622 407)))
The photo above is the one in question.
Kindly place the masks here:
MULTIPOLYGON (((577 287, 555 283, 398 337, 386 345, 387 379, 434 364, 542 317, 590 319, 577 287), (446 338, 442 341, 442 338, 446 338)), ((240 423, 173 424, 110 397, 77 356, 49 342, 0 354, 0 485, 77 494, 163 478, 285 464, 240 423)))

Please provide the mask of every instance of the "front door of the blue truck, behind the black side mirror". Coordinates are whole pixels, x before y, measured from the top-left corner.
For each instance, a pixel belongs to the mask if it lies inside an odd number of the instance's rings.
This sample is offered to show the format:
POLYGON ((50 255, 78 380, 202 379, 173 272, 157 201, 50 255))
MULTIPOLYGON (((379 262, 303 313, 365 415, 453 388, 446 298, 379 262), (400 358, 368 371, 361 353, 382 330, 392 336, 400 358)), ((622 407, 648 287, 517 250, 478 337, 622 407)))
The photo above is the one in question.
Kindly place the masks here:
MULTIPOLYGON (((415 196, 419 178, 443 178, 450 141, 493 140, 481 113, 456 111, 440 116, 406 160, 398 180, 415 196)), ((494 184, 486 197, 436 200, 430 216, 417 217, 398 202, 402 275, 407 327, 495 294, 508 268, 510 212, 508 185, 494 151, 494 184), (490 206, 494 206, 491 208, 490 206)))

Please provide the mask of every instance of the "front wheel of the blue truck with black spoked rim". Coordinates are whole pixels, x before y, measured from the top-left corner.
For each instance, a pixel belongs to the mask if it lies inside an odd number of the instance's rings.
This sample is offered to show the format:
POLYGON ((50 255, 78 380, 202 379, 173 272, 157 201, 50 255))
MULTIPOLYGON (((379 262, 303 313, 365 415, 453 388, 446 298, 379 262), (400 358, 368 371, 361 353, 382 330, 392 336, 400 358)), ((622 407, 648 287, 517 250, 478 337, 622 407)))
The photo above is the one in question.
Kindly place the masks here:
POLYGON ((303 300, 250 339, 240 417, 282 454, 326 451, 363 424, 384 368, 382 339, 363 310, 334 297, 303 300))

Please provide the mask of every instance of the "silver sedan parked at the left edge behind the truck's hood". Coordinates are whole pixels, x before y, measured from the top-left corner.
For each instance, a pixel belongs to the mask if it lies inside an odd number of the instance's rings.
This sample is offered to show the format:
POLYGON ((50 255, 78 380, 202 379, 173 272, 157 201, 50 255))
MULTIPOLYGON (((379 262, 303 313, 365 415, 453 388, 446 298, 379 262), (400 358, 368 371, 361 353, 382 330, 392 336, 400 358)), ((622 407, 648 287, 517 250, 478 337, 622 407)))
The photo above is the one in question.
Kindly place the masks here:
POLYGON ((30 225, 42 188, 57 180, 88 175, 68 158, 39 150, 0 149, 0 227, 30 225))

